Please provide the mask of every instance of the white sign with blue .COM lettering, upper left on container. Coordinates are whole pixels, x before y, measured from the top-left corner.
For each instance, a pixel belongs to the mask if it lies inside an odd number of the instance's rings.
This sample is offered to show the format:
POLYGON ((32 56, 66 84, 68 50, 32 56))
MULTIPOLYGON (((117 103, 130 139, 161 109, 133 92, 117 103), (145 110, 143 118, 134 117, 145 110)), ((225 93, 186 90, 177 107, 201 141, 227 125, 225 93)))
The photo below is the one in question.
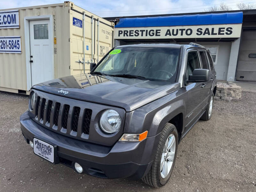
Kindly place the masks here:
POLYGON ((19 10, 0 11, 1 28, 20 28, 19 10))

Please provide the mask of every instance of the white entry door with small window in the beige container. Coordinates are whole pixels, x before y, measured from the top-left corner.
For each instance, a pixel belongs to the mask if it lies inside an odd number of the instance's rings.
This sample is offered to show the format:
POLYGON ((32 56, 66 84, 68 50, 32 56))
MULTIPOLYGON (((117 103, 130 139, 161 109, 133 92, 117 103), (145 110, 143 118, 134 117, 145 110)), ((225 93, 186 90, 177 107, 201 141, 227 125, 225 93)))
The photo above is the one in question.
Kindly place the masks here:
POLYGON ((49 39, 50 20, 30 20, 30 65, 32 86, 54 79, 52 44, 49 39))

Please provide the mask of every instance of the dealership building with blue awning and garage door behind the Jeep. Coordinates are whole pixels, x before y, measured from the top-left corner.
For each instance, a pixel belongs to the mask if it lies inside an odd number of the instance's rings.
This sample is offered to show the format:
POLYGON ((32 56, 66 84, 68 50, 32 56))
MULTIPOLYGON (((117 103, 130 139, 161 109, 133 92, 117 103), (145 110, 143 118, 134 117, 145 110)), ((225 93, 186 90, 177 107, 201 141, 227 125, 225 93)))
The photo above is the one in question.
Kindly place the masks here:
POLYGON ((211 53, 217 79, 256 81, 256 10, 104 18, 115 46, 194 42, 211 53))

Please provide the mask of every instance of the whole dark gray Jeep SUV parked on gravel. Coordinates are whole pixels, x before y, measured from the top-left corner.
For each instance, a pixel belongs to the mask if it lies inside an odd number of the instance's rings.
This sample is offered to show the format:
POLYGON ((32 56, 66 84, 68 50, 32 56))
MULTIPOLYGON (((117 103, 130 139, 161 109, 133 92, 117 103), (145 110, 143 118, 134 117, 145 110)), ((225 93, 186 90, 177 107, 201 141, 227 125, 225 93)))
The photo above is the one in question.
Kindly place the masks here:
POLYGON ((210 52, 193 43, 125 45, 90 69, 31 88, 20 116, 25 140, 36 155, 78 173, 164 186, 180 140, 211 118, 210 52))

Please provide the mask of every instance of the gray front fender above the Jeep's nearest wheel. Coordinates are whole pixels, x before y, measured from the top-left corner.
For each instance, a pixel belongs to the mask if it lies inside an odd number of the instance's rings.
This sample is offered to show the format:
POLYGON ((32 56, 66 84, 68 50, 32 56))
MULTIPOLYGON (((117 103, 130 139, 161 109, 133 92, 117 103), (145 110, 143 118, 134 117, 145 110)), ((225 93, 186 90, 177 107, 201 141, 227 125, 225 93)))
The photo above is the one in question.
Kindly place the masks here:
POLYGON ((179 89, 132 112, 126 113, 124 133, 148 131, 148 137, 151 137, 159 134, 164 125, 179 113, 183 114, 184 121, 185 100, 184 89, 179 89))

